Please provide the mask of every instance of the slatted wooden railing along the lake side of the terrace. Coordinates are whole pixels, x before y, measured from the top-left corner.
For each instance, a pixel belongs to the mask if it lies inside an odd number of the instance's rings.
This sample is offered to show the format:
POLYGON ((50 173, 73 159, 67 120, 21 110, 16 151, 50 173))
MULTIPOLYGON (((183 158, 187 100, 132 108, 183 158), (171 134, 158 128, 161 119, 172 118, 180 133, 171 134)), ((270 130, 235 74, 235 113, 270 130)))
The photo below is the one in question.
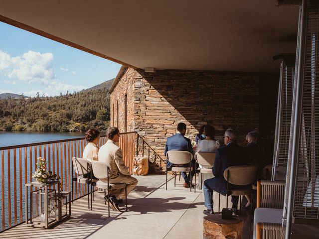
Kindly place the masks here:
MULTIPOLYGON (((119 146, 122 148, 125 165, 133 171, 135 156, 136 132, 121 133, 119 146)), ((107 141, 106 135, 100 135, 99 145, 107 141)), ((16 146, 0 147, 0 190, 1 190, 1 231, 24 222, 24 184, 32 181, 32 173, 36 169, 37 158, 46 159, 48 170, 57 174, 61 180, 61 188, 70 191, 72 188, 72 157, 82 157, 86 140, 84 137, 31 143, 16 146)), ((82 184, 74 182, 73 198, 87 194, 82 184)), ((39 212, 37 198, 34 202, 33 215, 39 212)))

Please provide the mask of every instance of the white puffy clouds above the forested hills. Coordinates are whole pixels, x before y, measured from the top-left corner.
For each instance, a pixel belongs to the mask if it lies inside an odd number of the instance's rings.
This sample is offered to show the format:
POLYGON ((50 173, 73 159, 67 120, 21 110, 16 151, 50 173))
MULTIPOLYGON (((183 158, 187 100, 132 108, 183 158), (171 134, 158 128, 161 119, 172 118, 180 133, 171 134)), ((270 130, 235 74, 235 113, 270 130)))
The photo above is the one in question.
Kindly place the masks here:
MULTIPOLYGON (((29 84, 40 84, 38 89, 23 92, 26 96, 56 96, 60 92, 66 94, 67 91, 74 92, 86 89, 85 86, 73 86, 59 82, 53 70, 53 54, 28 51, 22 56, 11 57, 6 52, 0 50, 0 75, 8 78, 25 81, 29 84)), ((60 67, 61 71, 69 71, 67 68, 60 67)), ((71 71, 75 74, 75 71, 71 71)), ((15 81, 5 81, 7 84, 15 84, 15 81), (9 83, 10 82, 10 83, 9 83)))

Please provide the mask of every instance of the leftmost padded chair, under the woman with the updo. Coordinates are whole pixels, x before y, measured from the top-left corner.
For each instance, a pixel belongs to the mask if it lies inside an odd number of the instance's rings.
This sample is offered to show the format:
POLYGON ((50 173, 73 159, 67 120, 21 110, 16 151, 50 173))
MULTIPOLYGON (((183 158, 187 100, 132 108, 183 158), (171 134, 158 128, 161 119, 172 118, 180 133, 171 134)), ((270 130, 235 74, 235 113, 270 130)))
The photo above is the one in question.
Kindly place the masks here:
MULTIPOLYGON (((73 182, 87 184, 88 205, 90 209, 90 194, 91 194, 91 210, 92 210, 92 200, 94 200, 93 186, 95 186, 95 182, 97 180, 92 179, 91 171, 92 171, 91 163, 87 159, 77 158, 77 157, 72 158, 72 189, 73 189, 73 182), (76 173, 76 177, 73 177, 74 172, 76 173)), ((72 202, 73 202, 73 194, 72 194, 72 202)))

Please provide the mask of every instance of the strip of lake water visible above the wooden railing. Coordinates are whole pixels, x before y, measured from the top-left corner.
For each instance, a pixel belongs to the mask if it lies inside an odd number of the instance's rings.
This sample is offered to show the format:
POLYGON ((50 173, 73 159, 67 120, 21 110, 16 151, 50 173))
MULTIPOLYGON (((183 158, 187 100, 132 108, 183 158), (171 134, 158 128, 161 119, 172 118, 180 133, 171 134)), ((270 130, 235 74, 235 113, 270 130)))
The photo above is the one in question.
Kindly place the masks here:
POLYGON ((5 132, 0 131, 0 147, 37 143, 68 138, 79 138, 84 132, 5 132))

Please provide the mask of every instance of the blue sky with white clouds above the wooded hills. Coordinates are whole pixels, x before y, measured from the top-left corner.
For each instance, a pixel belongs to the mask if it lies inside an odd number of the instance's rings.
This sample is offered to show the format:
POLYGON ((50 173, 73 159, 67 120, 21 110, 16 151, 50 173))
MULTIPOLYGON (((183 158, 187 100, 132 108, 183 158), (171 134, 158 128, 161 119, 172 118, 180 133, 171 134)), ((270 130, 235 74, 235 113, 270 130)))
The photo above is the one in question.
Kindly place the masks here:
POLYGON ((0 94, 57 96, 115 78, 120 64, 0 22, 0 94))

